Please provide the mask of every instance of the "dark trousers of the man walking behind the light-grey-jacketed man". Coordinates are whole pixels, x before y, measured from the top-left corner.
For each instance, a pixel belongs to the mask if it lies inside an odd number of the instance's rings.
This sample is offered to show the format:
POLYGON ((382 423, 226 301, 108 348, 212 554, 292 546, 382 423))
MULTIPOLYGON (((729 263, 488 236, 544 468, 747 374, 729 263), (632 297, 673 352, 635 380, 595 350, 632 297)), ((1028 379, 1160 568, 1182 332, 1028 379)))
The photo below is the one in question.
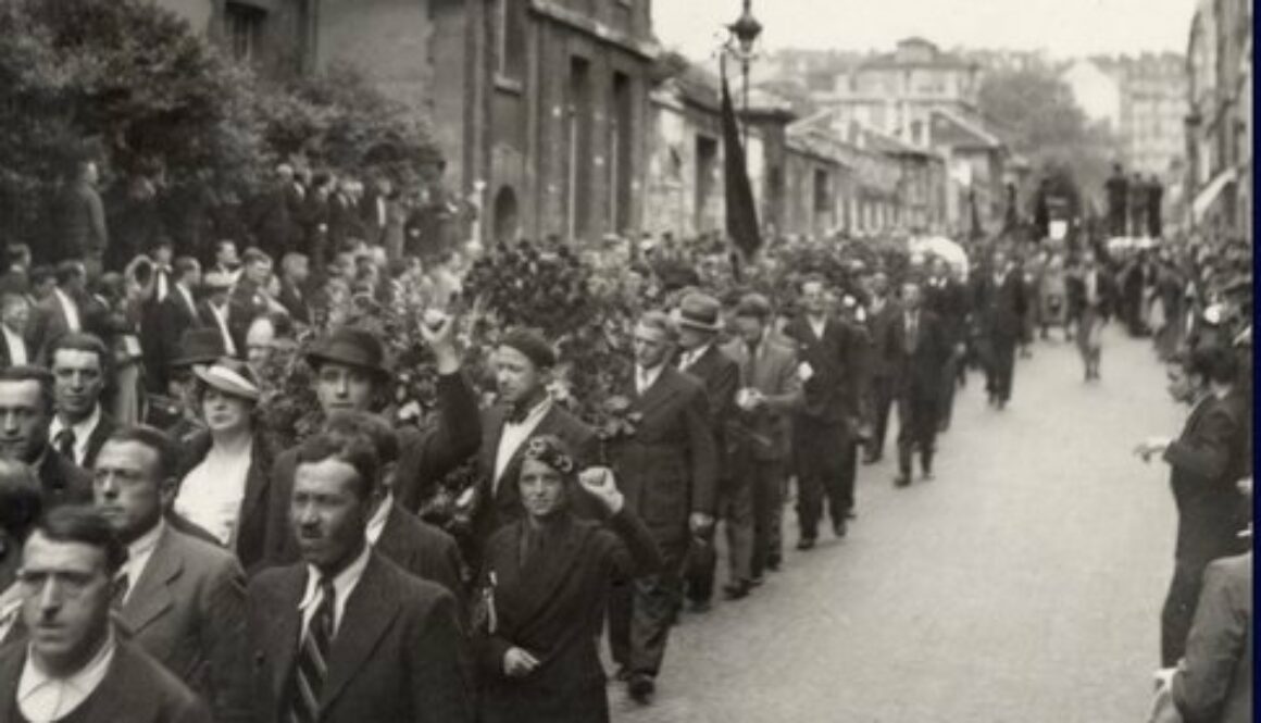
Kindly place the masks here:
POLYGON ((810 416, 794 418, 792 432, 797 464, 797 524, 802 538, 815 539, 823 516, 825 496, 834 525, 844 520, 854 506, 854 477, 847 472, 854 462, 855 445, 844 424, 821 423, 810 416))

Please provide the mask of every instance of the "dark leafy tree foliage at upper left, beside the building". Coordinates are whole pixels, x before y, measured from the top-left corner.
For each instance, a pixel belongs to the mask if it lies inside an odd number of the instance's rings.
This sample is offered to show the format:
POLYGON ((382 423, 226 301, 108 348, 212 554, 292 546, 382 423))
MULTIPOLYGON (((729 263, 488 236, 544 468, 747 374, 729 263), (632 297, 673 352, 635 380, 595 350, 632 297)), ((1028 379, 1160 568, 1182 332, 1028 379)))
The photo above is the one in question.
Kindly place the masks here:
POLYGON ((277 159, 339 173, 436 167, 422 120, 352 69, 262 82, 150 0, 0 1, 0 230, 38 244, 71 165, 204 172, 248 194, 277 159))

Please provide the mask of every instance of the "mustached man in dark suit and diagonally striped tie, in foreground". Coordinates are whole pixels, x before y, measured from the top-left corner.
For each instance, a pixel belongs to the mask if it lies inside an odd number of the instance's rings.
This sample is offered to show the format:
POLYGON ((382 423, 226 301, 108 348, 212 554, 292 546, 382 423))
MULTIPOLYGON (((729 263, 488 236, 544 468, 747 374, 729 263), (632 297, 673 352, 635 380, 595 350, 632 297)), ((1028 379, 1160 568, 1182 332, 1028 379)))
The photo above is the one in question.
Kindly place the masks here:
POLYGON ((380 483, 372 440, 313 437, 295 476, 303 561, 264 570, 248 589, 256 719, 472 722, 455 598, 367 544, 380 483))

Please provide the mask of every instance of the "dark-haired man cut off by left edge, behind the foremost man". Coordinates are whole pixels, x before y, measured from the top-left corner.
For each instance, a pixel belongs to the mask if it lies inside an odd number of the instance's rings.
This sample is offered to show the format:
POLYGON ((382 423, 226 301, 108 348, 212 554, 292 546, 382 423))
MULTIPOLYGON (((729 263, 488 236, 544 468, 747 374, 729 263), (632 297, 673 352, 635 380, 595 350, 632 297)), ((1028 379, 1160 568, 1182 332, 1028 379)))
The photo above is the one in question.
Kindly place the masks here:
POLYGON ((0 646, 25 636, 21 623, 21 546, 43 512, 39 479, 29 467, 0 458, 0 646))

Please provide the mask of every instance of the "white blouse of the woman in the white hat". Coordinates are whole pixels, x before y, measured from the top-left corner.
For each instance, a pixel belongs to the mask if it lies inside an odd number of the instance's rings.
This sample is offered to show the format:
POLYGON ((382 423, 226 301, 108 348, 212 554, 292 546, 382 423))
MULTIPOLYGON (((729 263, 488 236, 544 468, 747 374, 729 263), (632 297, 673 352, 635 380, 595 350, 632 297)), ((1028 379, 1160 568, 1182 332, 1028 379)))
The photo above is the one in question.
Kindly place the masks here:
POLYGON ((231 546, 236 540, 241 500, 245 498, 246 478, 253 439, 241 450, 224 452, 212 445, 206 459, 184 477, 175 496, 175 511, 197 522, 221 543, 231 546))

